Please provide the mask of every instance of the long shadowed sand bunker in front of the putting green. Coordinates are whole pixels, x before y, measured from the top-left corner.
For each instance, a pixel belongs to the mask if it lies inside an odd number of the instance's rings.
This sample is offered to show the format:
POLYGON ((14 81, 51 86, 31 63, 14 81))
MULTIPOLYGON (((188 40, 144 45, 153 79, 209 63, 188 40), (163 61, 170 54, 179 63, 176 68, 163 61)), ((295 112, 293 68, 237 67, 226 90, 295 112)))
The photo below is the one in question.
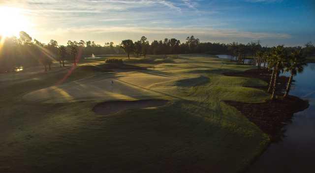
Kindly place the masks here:
POLYGON ((96 104, 93 111, 100 115, 109 115, 119 111, 136 108, 158 107, 167 103, 167 100, 150 99, 135 101, 106 101, 96 104))

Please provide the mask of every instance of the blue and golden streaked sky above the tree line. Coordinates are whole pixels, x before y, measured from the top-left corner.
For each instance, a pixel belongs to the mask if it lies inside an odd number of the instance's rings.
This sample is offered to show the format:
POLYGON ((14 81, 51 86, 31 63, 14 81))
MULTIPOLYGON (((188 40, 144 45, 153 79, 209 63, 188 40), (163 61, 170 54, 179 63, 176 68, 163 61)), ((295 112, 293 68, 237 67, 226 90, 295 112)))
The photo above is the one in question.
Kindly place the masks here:
POLYGON ((194 35, 201 42, 315 43, 315 0, 0 0, 1 6, 19 9, 29 24, 23 30, 43 43, 120 44, 143 35, 150 42, 194 35))

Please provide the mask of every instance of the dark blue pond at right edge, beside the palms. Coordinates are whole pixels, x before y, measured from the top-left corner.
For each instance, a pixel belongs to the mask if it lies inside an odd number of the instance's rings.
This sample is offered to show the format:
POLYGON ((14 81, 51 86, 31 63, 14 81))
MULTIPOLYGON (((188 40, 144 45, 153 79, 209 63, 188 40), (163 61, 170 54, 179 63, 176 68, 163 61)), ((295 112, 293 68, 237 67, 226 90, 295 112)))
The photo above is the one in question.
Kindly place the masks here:
POLYGON ((315 172, 315 63, 309 63, 294 80, 290 95, 308 99, 310 107, 294 114, 284 126, 283 141, 272 143, 248 173, 315 172))

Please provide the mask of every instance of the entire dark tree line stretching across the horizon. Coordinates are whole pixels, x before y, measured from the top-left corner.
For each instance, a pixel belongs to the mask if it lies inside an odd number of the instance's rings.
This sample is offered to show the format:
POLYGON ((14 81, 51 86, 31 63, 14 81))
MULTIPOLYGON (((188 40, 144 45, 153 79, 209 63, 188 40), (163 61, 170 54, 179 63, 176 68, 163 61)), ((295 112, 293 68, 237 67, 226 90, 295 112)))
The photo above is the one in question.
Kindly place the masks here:
MULTIPOLYGON (((247 56, 256 56, 258 51, 270 51, 272 48, 262 47, 260 41, 241 44, 233 42, 230 44, 202 43, 194 36, 187 37, 185 43, 175 38, 154 40, 151 44, 145 36, 138 41, 123 40, 120 45, 113 42, 105 43, 103 46, 95 44, 94 41, 68 41, 65 46, 59 45, 57 41, 51 40, 48 44, 39 42, 26 32, 21 31, 17 37, 0 37, 0 73, 13 72, 19 67, 29 67, 42 64, 45 70, 50 70, 52 61, 60 62, 64 66, 65 60, 73 61, 73 64, 81 57, 101 54, 124 54, 128 58, 146 57, 147 54, 185 54, 185 53, 208 53, 208 54, 230 54, 237 56, 241 62, 247 56)), ((315 54, 315 47, 307 43, 304 48, 294 47, 285 49, 301 49, 303 56, 315 54)))

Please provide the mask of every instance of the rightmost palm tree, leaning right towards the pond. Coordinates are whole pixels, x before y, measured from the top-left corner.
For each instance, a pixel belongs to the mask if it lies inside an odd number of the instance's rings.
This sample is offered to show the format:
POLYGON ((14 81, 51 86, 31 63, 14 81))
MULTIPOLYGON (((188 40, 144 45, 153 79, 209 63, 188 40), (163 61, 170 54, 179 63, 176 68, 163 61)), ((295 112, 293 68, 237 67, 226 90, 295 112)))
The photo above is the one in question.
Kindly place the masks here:
POLYGON ((285 71, 290 72, 290 77, 287 82, 284 98, 287 97, 290 92, 293 76, 296 75, 297 73, 303 72, 304 70, 304 66, 306 65, 306 59, 305 57, 303 57, 302 54, 303 53, 301 49, 293 51, 284 64, 285 71))

